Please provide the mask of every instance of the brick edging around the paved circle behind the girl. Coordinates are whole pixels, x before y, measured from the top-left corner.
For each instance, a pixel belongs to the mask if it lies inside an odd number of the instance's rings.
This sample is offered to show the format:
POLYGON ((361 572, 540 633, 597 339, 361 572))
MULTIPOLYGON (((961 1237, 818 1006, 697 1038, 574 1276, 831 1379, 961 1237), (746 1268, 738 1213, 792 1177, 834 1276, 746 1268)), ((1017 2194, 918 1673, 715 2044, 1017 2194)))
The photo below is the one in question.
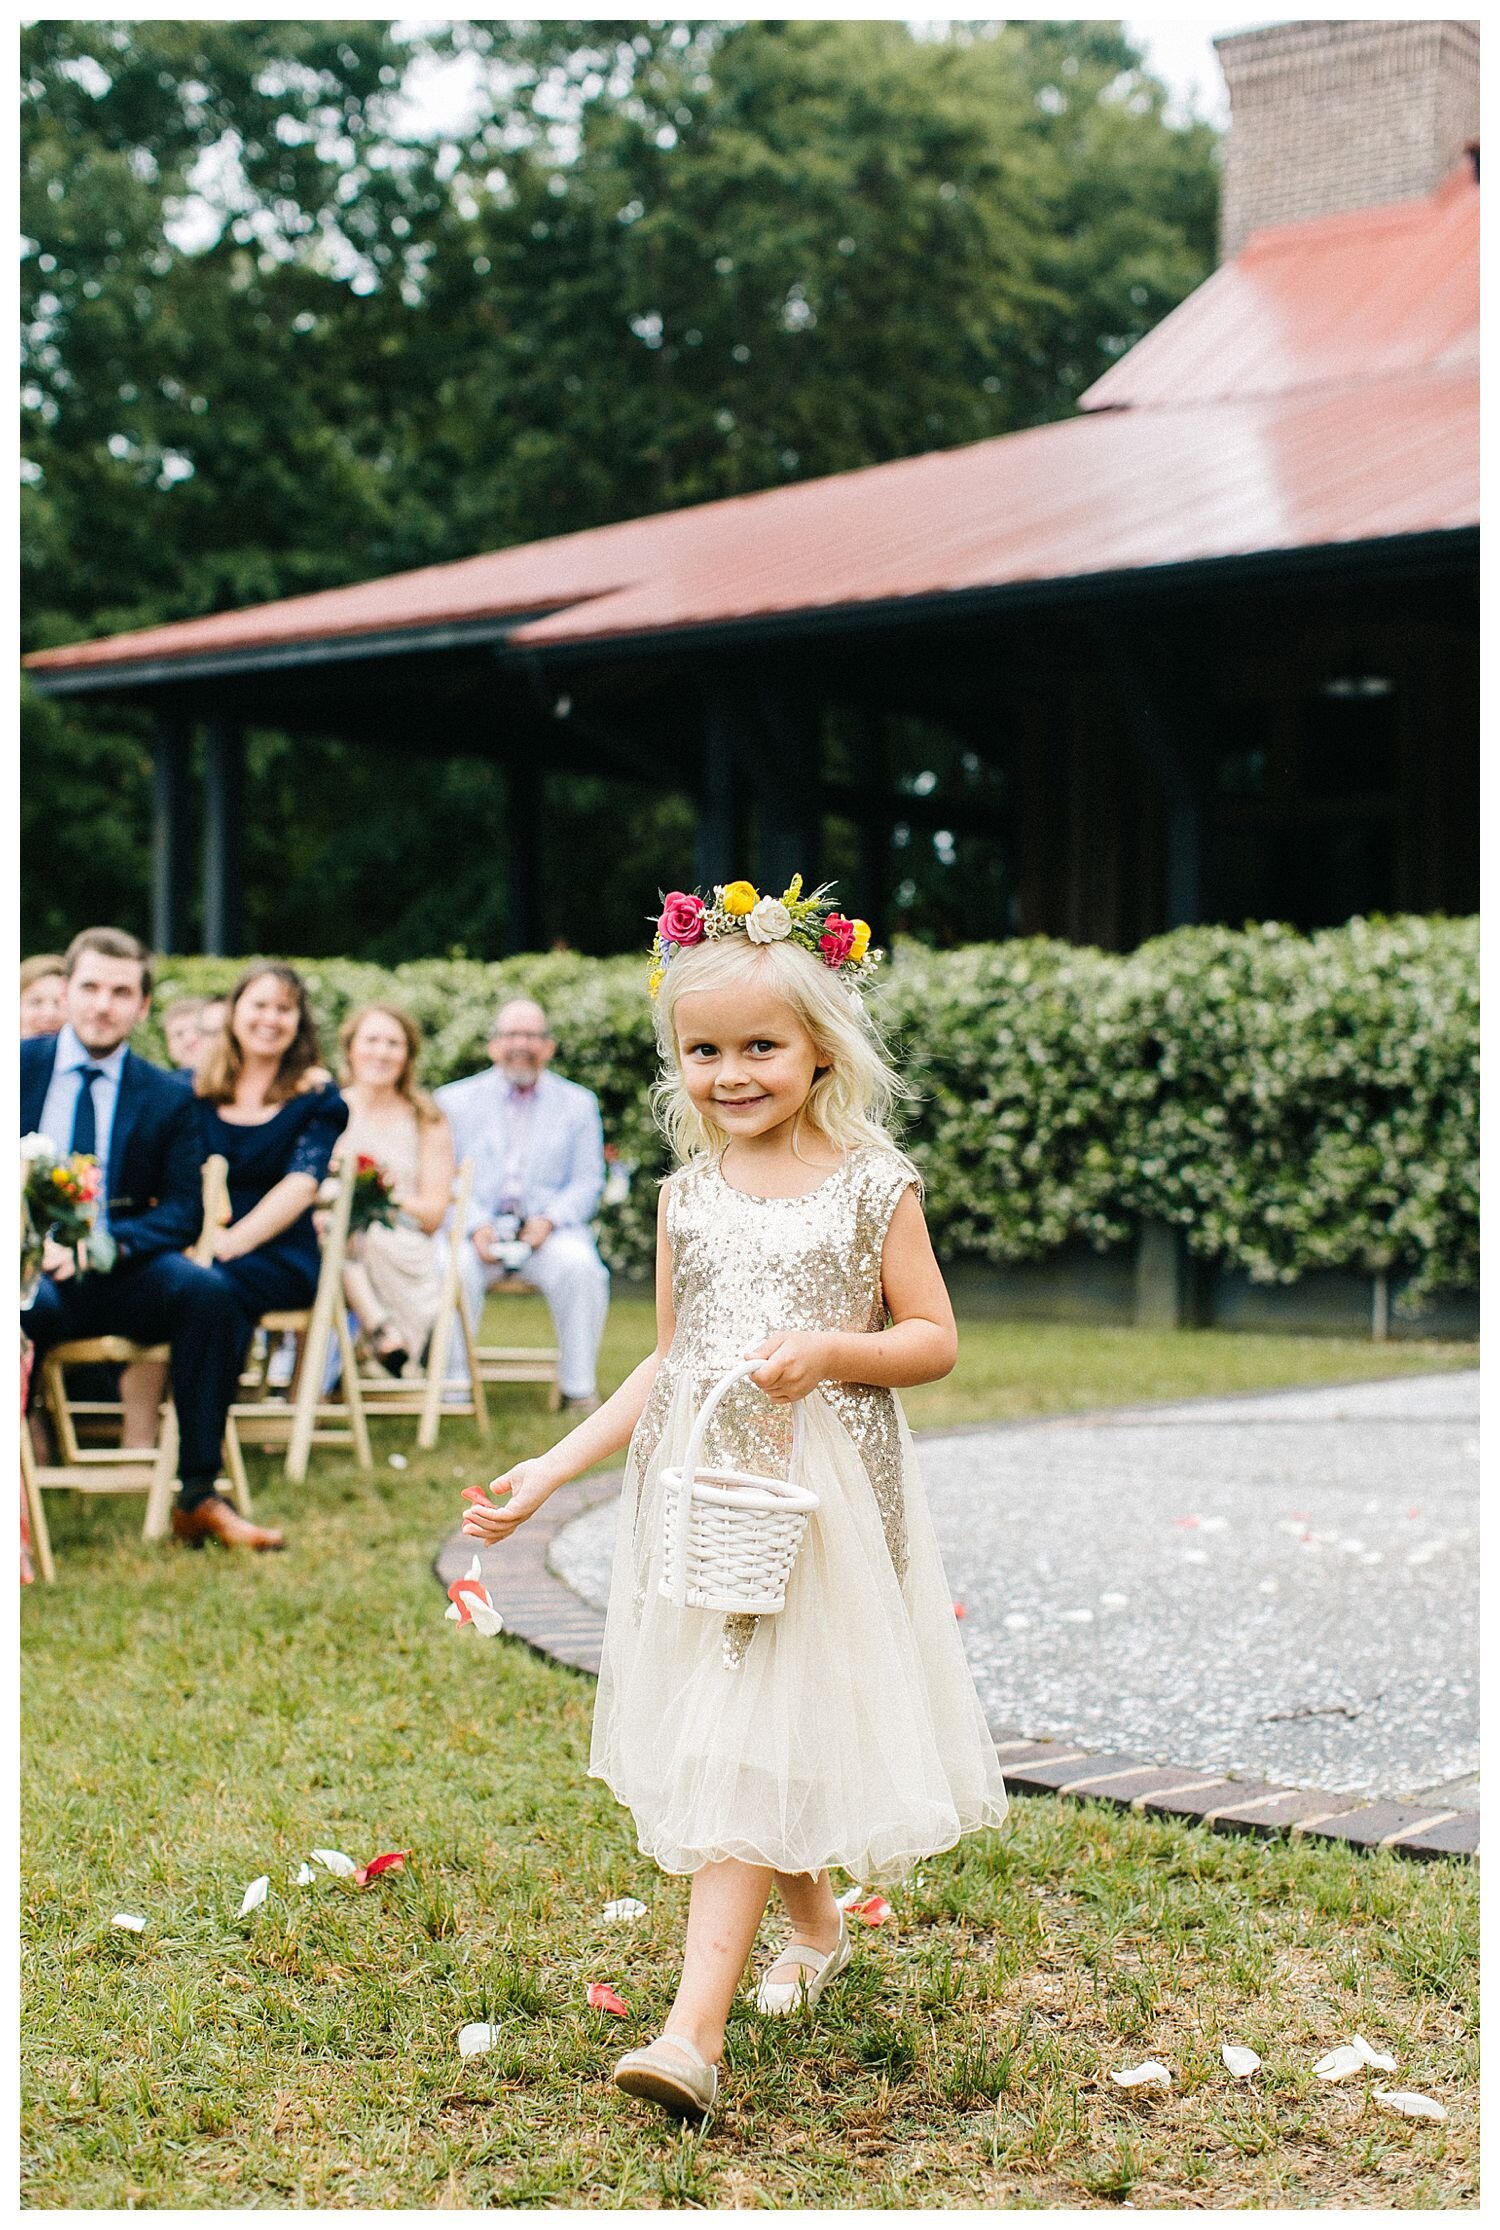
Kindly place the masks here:
MULTIPOLYGON (((573 1594, 546 1557, 573 1519, 620 1492, 620 1474, 577 1478, 559 1487, 544 1510, 506 1541, 504 1557, 461 1532, 432 1559, 444 1588, 459 1579, 475 1554, 506 1632, 537 1657, 597 1679, 604 1615, 573 1594)), ((1155 1820, 1186 1820, 1219 1835, 1306 1835, 1351 1851, 1395 1851, 1397 1858, 1435 1860, 1480 1855, 1478 1811, 1440 1804, 1391 1804, 1333 1795, 1328 1788, 1288 1788, 1282 1782, 1241 1782, 1190 1766, 1155 1766, 1143 1757, 1088 1751, 1072 1742, 1032 1742, 1012 1728, 992 1728, 1005 1788, 1012 1795, 1054 1795, 1112 1804, 1155 1820)))

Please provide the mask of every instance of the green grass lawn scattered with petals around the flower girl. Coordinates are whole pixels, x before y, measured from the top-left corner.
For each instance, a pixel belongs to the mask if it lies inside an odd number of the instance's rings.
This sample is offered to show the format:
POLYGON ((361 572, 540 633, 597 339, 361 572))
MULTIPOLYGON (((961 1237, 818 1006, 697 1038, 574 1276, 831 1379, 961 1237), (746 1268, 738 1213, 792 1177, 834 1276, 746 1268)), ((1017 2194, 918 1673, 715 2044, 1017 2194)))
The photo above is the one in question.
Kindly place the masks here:
MULTIPOLYGON (((517 1327, 524 1307, 508 1302, 517 1327)), ((519 1331, 517 1336, 528 1336, 519 1331)), ((606 1378, 646 1311, 613 1311, 606 1378)), ((981 1325, 925 1425, 1348 1380, 1471 1349, 981 1325)), ((261 1472, 285 1557, 145 1550, 140 1503, 53 1496, 27 1590, 22 2154, 38 2208, 1471 2208, 1478 1880, 1016 1800, 894 1891, 811 2018, 731 2025, 724 2110, 682 2134, 608 2085, 666 2009, 686 1887, 584 1780, 593 1684, 444 1621, 461 1483, 542 1445, 379 1429, 361 1478, 261 1472), (312 1846, 408 1846, 368 1891, 312 1846), (245 1884, 272 1896, 238 1920, 245 1884), (626 1929, 606 1898, 649 1911, 626 1929), (143 1936, 114 1931, 143 1913, 143 1936), (629 2000, 613 2020, 591 1980, 629 2000), (468 2020, 501 2029, 461 2061, 468 2020), (1311 2063, 1362 2032, 1444 2125, 1311 2063), (1235 2083, 1221 2043, 1264 2069, 1235 2083), (1166 2061, 1168 2096, 1112 2067, 1166 2061)))

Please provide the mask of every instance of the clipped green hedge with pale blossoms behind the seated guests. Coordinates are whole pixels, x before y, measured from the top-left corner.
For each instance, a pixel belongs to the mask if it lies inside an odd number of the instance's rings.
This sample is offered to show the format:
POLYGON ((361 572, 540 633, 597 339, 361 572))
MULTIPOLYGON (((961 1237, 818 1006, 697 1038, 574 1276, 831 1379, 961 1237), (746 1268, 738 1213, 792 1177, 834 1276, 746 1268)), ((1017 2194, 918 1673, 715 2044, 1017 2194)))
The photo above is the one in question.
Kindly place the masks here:
MULTIPOLYGON (((158 1012, 225 990, 238 966, 167 961, 158 1012)), ((637 959, 299 966, 328 1041, 363 999, 406 1006, 428 1084, 484 1066, 499 997, 542 999, 557 1068, 600 1095, 633 1173, 602 1211, 604 1253, 649 1267, 664 1151, 637 959)), ((1259 1280, 1389 1267, 1413 1296, 1478 1282, 1473 921, 1195 928, 1123 957, 1050 939, 905 946, 871 1010, 916 1093, 907 1144, 945 1255, 1036 1260, 1159 1218, 1259 1280)), ((156 1021, 145 1050, 160 1057, 156 1021)))

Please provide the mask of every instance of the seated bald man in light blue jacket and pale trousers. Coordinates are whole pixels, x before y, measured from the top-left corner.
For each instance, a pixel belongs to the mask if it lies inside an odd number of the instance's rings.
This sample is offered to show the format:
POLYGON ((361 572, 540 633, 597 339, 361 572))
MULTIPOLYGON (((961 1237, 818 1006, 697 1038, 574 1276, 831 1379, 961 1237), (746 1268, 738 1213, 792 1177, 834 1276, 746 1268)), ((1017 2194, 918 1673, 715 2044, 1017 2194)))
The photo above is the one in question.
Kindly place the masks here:
MULTIPOLYGON (((533 999, 501 1006, 488 1053, 490 1068, 435 1095, 459 1162, 475 1162, 468 1231, 452 1233, 468 1316, 477 1329, 486 1291, 519 1271, 553 1311, 564 1405, 593 1409, 608 1313, 608 1271, 588 1229, 604 1191, 600 1102, 551 1075, 557 1044, 533 999)), ((461 1338, 448 1374, 468 1378, 461 1338)))

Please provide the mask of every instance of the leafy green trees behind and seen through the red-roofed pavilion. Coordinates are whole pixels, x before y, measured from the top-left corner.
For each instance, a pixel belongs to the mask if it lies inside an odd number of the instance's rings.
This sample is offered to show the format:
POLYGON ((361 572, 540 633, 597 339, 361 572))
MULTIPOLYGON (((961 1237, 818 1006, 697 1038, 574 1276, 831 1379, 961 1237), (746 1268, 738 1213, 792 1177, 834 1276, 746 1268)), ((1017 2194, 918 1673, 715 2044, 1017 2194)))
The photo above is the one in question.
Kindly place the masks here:
MULTIPOLYGON (((1212 265, 1212 132, 1117 22, 397 29, 22 33, 27 647, 1054 419, 1212 265)), ((145 925, 145 734, 22 734, 27 937, 145 925)), ((390 792, 252 738, 256 941, 493 943, 493 870, 437 870, 497 856, 499 778, 390 792)), ((686 843, 597 803, 559 778, 573 874, 686 843)))

